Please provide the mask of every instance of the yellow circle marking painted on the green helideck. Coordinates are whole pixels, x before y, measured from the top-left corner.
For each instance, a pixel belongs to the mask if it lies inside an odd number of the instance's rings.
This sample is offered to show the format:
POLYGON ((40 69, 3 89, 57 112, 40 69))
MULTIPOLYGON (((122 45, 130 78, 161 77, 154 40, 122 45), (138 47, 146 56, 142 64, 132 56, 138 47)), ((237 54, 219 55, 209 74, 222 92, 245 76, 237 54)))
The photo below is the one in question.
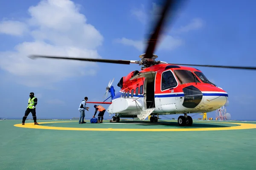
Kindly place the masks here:
MULTIPOLYGON (((64 121, 64 122, 74 122, 74 121, 64 121)), ((64 122, 40 122, 39 124, 46 123, 64 123, 64 122)), ((216 123, 216 122, 215 122, 216 123)), ((231 122, 220 122, 227 124, 234 124, 240 126, 231 127, 209 127, 209 128, 182 128, 182 129, 115 129, 115 128, 81 128, 81 127, 53 127, 53 126, 40 126, 34 125, 34 123, 26 123, 25 125, 16 124, 16 127, 25 127, 32 129, 52 129, 52 130, 85 130, 85 131, 208 131, 208 130, 241 130, 241 129, 254 129, 256 124, 247 123, 231 123, 231 122)))

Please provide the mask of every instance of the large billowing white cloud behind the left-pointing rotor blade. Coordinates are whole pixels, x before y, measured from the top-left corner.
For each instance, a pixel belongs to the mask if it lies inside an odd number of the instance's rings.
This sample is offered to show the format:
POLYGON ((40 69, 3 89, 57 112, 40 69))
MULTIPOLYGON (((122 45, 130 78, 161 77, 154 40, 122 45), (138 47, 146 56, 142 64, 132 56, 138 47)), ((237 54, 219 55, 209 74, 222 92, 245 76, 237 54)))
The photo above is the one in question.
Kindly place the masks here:
MULTIPOLYGON (((30 54, 100 58, 96 48, 102 45, 103 37, 86 23, 77 5, 70 0, 41 0, 28 11, 31 17, 16 29, 29 28, 34 40, 16 45, 13 51, 0 52, 0 68, 14 75, 16 82, 30 87, 96 73, 94 62, 28 58, 30 54)), ((18 35, 22 33, 25 31, 18 35)))

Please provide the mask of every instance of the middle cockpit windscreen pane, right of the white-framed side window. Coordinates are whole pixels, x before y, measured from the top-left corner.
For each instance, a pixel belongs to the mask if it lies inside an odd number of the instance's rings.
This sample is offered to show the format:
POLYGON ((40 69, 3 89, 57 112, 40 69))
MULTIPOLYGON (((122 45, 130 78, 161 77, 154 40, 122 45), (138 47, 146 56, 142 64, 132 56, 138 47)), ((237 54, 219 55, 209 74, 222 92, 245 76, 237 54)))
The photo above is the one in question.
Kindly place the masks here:
POLYGON ((191 82, 200 82, 198 78, 191 71, 188 70, 175 70, 174 71, 180 84, 186 84, 191 82))

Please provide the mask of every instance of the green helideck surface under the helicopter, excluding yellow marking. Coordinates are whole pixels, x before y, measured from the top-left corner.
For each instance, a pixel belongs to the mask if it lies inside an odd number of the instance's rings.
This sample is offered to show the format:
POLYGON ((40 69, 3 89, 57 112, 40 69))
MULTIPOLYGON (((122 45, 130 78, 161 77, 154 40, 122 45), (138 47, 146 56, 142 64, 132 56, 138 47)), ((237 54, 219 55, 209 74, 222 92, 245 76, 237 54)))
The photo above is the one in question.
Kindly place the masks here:
MULTIPOLYGON (((41 120, 55 122, 59 120, 41 120)), ((67 120, 65 120, 67 121, 67 120)), ((33 121, 26 121, 26 123, 33 121)), ((105 121, 109 122, 109 121, 105 121)), ((208 128, 236 126, 194 122, 128 124, 47 123, 89 128, 208 128)), ((76 131, 15 127, 0 121, 0 170, 255 170, 256 129, 216 131, 76 131)), ((255 122, 239 122, 251 123, 255 122)))

